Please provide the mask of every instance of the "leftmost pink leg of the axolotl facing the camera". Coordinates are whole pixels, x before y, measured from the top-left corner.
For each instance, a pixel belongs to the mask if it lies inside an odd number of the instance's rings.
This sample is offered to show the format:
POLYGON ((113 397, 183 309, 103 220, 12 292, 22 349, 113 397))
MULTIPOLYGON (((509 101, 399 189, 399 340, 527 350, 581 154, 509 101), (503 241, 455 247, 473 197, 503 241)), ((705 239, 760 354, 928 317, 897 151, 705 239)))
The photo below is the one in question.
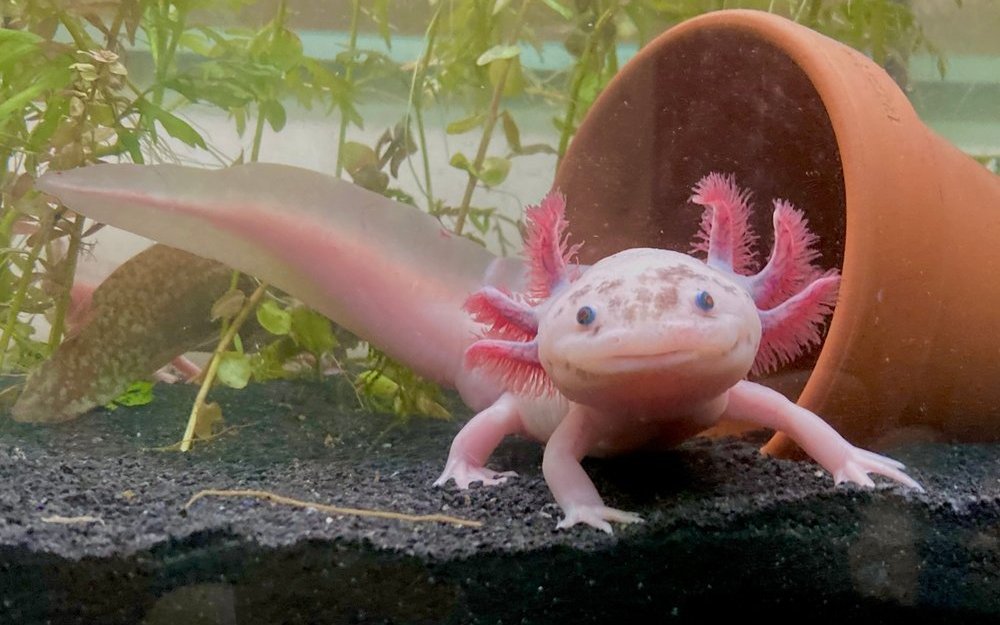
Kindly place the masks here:
POLYGON ((444 486, 452 479, 461 489, 473 482, 494 486, 515 477, 517 473, 513 471, 493 471, 484 465, 504 438, 524 432, 517 404, 513 394, 504 393, 466 423, 452 441, 448 462, 434 486, 444 486))

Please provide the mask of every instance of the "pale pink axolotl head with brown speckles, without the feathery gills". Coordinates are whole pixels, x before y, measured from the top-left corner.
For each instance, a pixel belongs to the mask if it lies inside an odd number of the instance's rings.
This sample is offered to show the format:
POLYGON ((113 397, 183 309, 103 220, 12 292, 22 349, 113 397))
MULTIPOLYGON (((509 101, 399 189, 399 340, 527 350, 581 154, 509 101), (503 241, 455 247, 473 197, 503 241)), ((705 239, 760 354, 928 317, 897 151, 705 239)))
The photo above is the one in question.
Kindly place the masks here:
POLYGON ((588 268, 539 311, 538 356, 578 403, 676 409, 744 378, 761 338, 747 291, 702 261, 630 249, 588 268))

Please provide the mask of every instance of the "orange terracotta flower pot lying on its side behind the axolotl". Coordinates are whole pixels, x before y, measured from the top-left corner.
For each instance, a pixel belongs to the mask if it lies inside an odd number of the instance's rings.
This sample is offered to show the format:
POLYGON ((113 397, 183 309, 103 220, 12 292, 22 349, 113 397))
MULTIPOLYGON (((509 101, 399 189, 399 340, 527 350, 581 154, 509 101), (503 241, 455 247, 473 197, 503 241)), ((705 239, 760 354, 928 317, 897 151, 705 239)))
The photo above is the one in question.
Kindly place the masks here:
MULTIPOLYGON (((1000 439, 1000 178, 928 130, 875 63, 781 17, 719 11, 672 28, 608 86, 555 185, 592 262, 690 249, 690 187, 732 172, 803 209, 843 272, 798 401, 856 444, 906 430, 1000 439)), ((791 396, 787 370, 763 380, 791 396)), ((789 448, 779 436, 768 451, 789 448)))

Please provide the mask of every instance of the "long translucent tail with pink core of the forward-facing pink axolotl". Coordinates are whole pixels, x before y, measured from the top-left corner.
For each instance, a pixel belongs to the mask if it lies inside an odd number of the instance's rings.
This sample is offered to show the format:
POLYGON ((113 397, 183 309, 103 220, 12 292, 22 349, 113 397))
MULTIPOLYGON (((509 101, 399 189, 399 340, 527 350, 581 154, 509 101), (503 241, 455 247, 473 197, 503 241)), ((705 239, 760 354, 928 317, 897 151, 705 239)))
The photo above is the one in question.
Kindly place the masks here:
POLYGON ((516 288, 525 274, 411 206, 296 167, 97 165, 47 173, 37 187, 266 280, 449 386, 478 329, 465 299, 487 284, 516 288))

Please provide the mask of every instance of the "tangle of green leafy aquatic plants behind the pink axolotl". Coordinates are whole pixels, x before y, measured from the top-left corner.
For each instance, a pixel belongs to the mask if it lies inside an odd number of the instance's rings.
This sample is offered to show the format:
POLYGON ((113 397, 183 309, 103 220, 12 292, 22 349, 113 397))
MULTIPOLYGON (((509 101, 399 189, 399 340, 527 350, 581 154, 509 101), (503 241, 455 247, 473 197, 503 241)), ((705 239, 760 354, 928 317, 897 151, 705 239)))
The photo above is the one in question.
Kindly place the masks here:
MULTIPOLYGON (((436 1, 425 7, 419 56, 404 62, 359 45, 359 35, 372 30, 391 46, 398 26, 393 9, 401 7, 389 0, 350 0, 345 45, 330 59, 304 52, 289 25, 294 6, 284 0, 256 28, 214 25, 229 21, 220 16, 250 5, 249 0, 0 2, 0 370, 24 373, 52 358, 65 344, 67 320, 86 306, 74 300, 73 287, 80 281, 79 259, 100 226, 88 228, 81 216, 32 190, 34 179, 48 169, 106 160, 176 160, 166 136, 223 165, 256 161, 266 152, 267 130, 285 128, 290 104, 320 107, 338 119, 334 173, 418 205, 456 234, 511 252, 519 247, 519 221, 480 206, 477 190, 503 185, 515 158, 562 157, 578 123, 617 72, 623 41, 641 46, 672 23, 742 7, 783 13, 887 65, 905 65, 919 49, 937 54, 906 3, 892 0, 436 1), (522 62, 525 51, 554 38, 570 53, 570 65, 529 70, 522 62), (135 58, 148 59, 148 69, 128 62, 135 58), (387 83, 402 85, 408 94, 399 121, 374 145, 352 141, 352 129, 365 122, 362 104, 387 83), (519 100, 560 111, 552 145, 522 143, 510 106, 519 100), (455 152, 450 161, 465 180, 460 197, 434 191, 424 113, 436 103, 463 110, 445 133, 477 133, 475 153, 455 152), (186 119, 192 105, 224 112, 245 137, 244 149, 221 153, 186 119), (505 149, 497 148, 498 133, 505 149), (417 197, 401 188, 402 167, 420 172, 417 197), (37 337, 41 317, 49 326, 44 338, 37 337)), ((119 284, 128 288, 127 281, 119 284)), ((201 297, 202 308, 218 320, 218 340, 184 437, 188 445, 216 378, 239 387, 251 379, 346 369, 370 408, 444 414, 433 385, 381 354, 359 350, 356 340, 265 284, 231 275, 214 299, 201 297), (267 332, 258 346, 241 334, 241 320, 247 318, 267 332)), ((95 345, 98 349, 100 342, 95 345)), ((116 384, 124 389, 131 381, 116 384)), ((107 394, 102 390, 100 396, 107 394)))

